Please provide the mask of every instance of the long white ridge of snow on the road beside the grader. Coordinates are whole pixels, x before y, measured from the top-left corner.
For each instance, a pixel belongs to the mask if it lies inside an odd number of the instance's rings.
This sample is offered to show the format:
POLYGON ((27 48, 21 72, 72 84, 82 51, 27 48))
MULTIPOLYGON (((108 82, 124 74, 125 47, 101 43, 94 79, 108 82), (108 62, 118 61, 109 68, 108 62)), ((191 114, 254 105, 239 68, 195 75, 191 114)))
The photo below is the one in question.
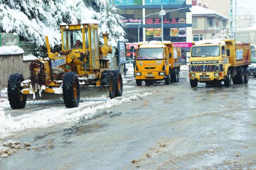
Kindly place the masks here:
POLYGON ((48 109, 31 112, 17 117, 6 114, 4 108, 0 107, 0 137, 5 137, 11 132, 18 132, 30 128, 43 128, 55 124, 77 122, 81 117, 88 118, 98 110, 111 108, 120 104, 142 99, 156 92, 135 93, 129 97, 118 97, 109 101, 83 102, 78 108, 51 107, 48 109))

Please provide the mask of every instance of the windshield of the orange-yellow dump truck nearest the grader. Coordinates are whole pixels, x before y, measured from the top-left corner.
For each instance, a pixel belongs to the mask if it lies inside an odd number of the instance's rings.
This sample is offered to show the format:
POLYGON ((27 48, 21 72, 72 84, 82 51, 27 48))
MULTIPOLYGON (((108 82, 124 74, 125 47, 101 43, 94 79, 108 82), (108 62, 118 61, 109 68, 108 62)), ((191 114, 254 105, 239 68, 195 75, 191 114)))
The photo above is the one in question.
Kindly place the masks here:
POLYGON ((137 60, 163 60, 163 48, 139 48, 137 60))

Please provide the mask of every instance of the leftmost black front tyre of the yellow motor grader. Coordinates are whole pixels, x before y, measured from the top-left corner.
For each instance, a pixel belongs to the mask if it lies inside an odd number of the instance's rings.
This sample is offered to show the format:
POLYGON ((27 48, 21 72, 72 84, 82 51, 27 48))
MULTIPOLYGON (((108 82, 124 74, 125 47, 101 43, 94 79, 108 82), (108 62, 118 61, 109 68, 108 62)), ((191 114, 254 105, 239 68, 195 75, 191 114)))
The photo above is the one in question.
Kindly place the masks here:
POLYGON ((9 77, 7 93, 12 109, 23 109, 26 105, 27 95, 20 92, 23 89, 20 86, 22 81, 24 81, 23 75, 19 73, 11 74, 9 77))

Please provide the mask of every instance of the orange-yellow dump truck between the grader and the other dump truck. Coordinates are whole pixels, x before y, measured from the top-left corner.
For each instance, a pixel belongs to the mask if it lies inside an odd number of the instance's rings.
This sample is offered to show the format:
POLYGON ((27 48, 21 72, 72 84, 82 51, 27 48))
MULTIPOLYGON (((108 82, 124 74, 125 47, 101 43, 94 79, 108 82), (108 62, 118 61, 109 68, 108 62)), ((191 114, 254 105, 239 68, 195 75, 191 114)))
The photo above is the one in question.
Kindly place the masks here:
POLYGON ((135 58, 135 79, 137 86, 142 81, 153 84, 165 80, 165 84, 179 82, 181 66, 181 48, 172 42, 149 42, 138 44, 135 58))

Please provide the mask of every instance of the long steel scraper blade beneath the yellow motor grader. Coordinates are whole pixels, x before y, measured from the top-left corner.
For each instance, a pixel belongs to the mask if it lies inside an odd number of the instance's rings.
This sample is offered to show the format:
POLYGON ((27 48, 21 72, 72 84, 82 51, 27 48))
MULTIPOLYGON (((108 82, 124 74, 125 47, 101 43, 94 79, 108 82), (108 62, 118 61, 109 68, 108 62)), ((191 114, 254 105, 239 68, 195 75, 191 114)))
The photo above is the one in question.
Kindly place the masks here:
MULTIPOLYGON (((109 97, 109 86, 80 86, 80 98, 91 98, 91 97, 109 97)), ((41 97, 39 93, 35 93, 35 99, 33 94, 27 95, 28 101, 35 100, 49 100, 49 99, 62 99, 62 94, 56 93, 45 93, 42 91, 41 97)))

